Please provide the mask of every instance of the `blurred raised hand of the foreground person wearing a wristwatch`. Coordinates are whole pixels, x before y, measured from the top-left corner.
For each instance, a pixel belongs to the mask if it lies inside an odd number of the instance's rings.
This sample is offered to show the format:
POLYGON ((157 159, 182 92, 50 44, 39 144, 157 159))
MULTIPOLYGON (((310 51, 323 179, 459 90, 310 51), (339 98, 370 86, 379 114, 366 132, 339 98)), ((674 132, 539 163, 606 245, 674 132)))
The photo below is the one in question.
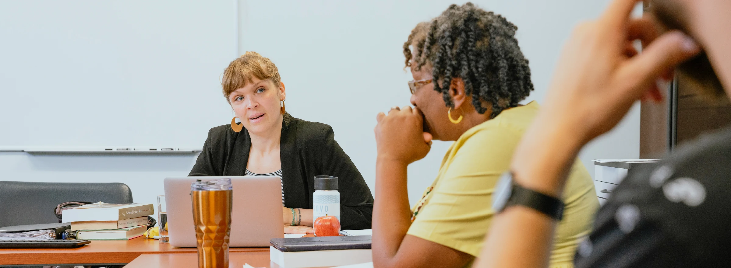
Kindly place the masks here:
POLYGON ((658 35, 649 20, 630 19, 636 2, 613 1, 599 20, 575 28, 537 122, 586 143, 612 129, 638 99, 659 99, 656 81, 670 79, 675 65, 699 53, 680 31, 658 35), (641 54, 635 39, 649 44, 641 54))

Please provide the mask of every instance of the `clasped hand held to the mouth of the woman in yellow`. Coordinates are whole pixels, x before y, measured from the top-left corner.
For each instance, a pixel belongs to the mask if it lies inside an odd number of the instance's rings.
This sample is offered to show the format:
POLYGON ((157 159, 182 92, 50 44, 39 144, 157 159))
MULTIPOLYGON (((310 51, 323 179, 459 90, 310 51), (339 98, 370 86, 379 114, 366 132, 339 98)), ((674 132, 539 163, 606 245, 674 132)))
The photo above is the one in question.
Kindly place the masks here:
POLYGON ((424 158, 431 149, 431 134, 424 132, 423 115, 418 108, 392 109, 376 115, 378 158, 411 164, 424 158))

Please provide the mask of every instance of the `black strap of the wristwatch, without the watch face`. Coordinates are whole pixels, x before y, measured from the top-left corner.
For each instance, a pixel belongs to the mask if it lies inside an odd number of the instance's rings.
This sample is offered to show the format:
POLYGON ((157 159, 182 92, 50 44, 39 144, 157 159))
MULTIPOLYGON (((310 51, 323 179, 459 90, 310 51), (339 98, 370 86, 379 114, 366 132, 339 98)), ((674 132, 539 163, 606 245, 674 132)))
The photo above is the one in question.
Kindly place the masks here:
POLYGON ((505 207, 516 204, 530 207, 558 221, 564 216, 564 202, 561 202, 561 199, 513 184, 512 194, 505 207))

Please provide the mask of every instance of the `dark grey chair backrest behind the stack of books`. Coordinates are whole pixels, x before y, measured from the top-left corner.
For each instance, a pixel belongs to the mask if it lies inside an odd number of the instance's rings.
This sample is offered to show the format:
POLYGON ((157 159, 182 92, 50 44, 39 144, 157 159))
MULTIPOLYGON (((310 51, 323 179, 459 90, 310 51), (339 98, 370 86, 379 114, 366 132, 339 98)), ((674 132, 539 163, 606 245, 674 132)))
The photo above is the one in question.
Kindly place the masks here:
POLYGON ((0 181, 0 227, 58 223, 54 210, 69 201, 129 204, 124 183, 30 183, 0 181))

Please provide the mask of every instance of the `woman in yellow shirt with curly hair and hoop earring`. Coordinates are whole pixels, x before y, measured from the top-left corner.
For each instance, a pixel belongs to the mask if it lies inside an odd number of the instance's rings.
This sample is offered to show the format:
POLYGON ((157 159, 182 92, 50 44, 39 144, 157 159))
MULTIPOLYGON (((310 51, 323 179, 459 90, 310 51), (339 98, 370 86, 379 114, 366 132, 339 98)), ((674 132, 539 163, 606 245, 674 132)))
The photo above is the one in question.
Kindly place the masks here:
MULTIPOLYGON (((518 104, 533 90, 528 60, 506 18, 467 3, 419 23, 404 43, 412 107, 377 116, 374 267, 465 267, 480 253, 491 199, 515 146, 539 107, 518 104), (455 141, 439 174, 409 207, 406 167, 431 139, 455 141)), ((575 160, 556 212, 551 267, 571 267, 599 208, 586 168, 575 160)))

